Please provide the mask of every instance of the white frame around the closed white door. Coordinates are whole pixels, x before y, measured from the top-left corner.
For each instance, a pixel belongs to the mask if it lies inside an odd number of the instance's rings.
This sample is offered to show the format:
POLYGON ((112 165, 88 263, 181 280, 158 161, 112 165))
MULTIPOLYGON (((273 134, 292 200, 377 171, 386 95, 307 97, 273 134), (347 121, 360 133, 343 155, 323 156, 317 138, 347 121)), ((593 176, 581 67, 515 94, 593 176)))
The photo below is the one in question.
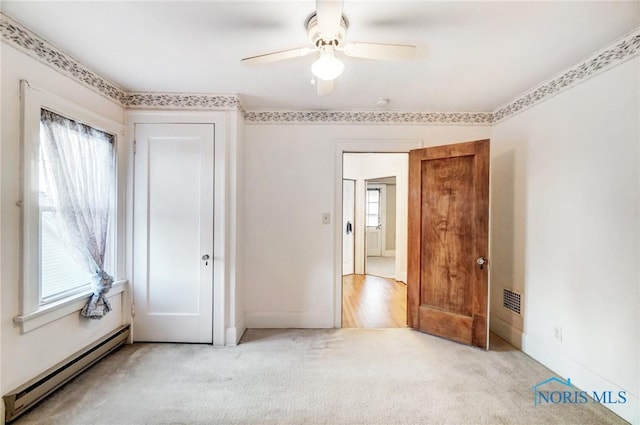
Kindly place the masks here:
MULTIPOLYGON (((226 167, 225 158, 229 156, 226 146, 229 144, 227 140, 226 128, 229 126, 227 113, 225 111, 215 112, 201 112, 201 111, 187 111, 187 112, 175 112, 175 111, 131 111, 127 112, 127 139, 132 149, 129 154, 127 168, 131 170, 127 176, 127 276, 133 276, 133 208, 134 208, 134 139, 135 139, 135 125, 136 124, 213 124, 214 125, 214 163, 213 163, 213 187, 214 187, 214 199, 213 199, 213 345, 235 345, 237 341, 236 336, 227 329, 227 323, 225 322, 225 313, 228 310, 228 306, 225 305, 225 294, 235 293, 235 288, 231 288, 232 284, 225 284, 225 274, 228 274, 228 270, 233 266, 228 260, 228 253, 226 252, 225 238, 229 235, 225 231, 232 226, 235 228, 236 217, 225 215, 227 206, 226 196, 226 167), (231 220, 232 223, 228 223, 231 220), (226 335, 228 334, 228 335, 226 335)), ((134 285, 135 282, 130 282, 130 285, 134 285)), ((123 314, 128 315, 131 311, 131 304, 133 302, 133 291, 129 290, 127 294, 126 308, 123 309, 123 314)), ((231 304, 233 304, 233 300, 231 304)), ((135 320, 135 317, 132 318, 135 320)), ((232 319, 233 325, 233 319, 232 319)), ((234 328, 235 329, 235 328, 234 328)), ((238 336, 239 337, 239 336, 238 336)), ((129 337, 129 342, 132 342, 134 338, 133 332, 129 337)))

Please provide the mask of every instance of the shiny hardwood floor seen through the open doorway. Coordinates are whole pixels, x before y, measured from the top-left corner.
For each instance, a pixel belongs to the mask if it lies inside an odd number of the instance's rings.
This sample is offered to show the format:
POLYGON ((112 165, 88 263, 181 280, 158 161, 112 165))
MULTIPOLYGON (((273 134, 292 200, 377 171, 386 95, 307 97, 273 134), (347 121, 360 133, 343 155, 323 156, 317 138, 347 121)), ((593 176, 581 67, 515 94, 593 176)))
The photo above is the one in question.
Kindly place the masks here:
POLYGON ((342 278, 343 328, 404 328, 407 286, 393 279, 353 274, 342 278))

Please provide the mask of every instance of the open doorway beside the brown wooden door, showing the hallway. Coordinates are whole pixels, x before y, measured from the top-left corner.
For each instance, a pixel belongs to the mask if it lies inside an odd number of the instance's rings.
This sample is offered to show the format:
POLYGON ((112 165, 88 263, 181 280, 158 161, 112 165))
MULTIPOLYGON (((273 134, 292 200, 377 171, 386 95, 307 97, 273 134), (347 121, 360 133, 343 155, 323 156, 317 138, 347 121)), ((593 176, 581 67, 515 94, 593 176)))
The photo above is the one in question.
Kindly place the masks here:
POLYGON ((408 155, 344 153, 342 327, 406 326, 408 155))

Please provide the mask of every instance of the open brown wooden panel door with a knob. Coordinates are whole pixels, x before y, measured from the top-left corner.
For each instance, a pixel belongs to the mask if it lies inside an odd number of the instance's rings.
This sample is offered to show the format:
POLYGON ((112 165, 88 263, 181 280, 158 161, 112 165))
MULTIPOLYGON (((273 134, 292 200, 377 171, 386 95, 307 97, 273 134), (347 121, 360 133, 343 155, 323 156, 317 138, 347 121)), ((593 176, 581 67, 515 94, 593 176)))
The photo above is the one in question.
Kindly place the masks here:
POLYGON ((489 140, 411 151, 408 219, 407 323, 488 348, 489 140))

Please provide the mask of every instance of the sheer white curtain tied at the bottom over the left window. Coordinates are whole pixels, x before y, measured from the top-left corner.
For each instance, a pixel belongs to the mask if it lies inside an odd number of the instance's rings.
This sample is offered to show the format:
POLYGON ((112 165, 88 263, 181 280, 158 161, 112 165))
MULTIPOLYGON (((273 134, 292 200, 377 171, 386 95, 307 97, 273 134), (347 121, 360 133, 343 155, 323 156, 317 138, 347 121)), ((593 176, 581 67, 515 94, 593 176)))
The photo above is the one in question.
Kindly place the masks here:
POLYGON ((80 314, 101 319, 111 310, 105 294, 113 283, 104 261, 113 209, 114 139, 44 109, 40 130, 42 189, 74 259, 94 276, 93 295, 80 314))

